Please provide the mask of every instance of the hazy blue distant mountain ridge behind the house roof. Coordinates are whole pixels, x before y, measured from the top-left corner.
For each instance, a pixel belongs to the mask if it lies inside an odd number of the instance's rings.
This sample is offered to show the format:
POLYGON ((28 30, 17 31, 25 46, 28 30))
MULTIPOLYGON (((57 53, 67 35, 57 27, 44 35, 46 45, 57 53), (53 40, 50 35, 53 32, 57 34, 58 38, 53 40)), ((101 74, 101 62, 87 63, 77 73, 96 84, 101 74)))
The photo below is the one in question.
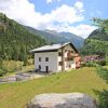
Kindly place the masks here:
POLYGON ((70 41, 78 49, 83 46, 84 39, 70 32, 57 32, 55 30, 49 29, 42 31, 31 27, 26 27, 26 29, 32 32, 33 35, 41 35, 42 38, 44 38, 51 43, 64 43, 70 41))

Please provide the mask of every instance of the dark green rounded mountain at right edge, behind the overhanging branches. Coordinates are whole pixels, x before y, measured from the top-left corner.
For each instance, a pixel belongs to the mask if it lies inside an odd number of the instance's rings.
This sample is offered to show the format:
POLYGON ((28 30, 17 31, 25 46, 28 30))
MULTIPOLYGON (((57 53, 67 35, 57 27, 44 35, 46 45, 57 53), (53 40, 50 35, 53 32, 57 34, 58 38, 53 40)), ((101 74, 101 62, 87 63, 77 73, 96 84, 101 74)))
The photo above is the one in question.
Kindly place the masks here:
POLYGON ((108 35, 103 30, 94 30, 84 41, 83 55, 103 54, 108 56, 108 35))

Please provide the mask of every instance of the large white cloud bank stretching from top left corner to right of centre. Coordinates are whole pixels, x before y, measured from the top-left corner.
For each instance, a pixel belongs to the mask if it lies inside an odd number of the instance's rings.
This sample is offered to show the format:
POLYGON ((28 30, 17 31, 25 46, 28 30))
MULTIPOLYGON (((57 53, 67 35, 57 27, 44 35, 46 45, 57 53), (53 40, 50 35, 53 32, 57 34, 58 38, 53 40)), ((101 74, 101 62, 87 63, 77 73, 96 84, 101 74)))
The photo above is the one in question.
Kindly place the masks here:
MULTIPOLYGON (((75 4, 76 6, 76 4, 75 4)), ((9 17, 16 19, 32 27, 41 27, 53 23, 75 23, 83 19, 82 11, 79 8, 68 6, 66 4, 53 10, 51 13, 41 14, 35 11, 35 4, 28 0, 0 0, 0 11, 9 17), (78 14, 79 13, 79 14, 78 14)))

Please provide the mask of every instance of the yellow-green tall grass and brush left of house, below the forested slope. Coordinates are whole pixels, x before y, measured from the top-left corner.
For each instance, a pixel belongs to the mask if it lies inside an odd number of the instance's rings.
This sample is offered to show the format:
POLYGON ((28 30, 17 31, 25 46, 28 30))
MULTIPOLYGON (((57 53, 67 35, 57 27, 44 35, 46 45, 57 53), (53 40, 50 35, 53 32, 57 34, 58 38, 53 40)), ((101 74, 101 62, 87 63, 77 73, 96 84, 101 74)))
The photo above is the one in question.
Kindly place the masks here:
POLYGON ((0 77, 5 73, 16 72, 16 71, 27 71, 29 69, 33 69, 32 59, 28 59, 27 66, 24 66, 24 62, 19 60, 3 60, 0 65, 0 77))

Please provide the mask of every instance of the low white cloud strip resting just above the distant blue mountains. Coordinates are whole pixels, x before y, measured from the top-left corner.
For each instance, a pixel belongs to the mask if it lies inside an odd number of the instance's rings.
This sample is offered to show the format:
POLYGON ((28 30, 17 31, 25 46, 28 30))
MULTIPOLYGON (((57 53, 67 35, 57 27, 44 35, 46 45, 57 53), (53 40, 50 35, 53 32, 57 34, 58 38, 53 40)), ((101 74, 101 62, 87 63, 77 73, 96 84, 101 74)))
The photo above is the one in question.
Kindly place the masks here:
POLYGON ((71 33, 75 33, 85 39, 93 30, 97 28, 95 26, 90 26, 90 25, 84 25, 84 24, 80 24, 78 26, 70 26, 68 24, 62 24, 57 26, 52 25, 48 27, 48 29, 56 30, 58 32, 62 32, 62 31, 71 32, 71 33))

